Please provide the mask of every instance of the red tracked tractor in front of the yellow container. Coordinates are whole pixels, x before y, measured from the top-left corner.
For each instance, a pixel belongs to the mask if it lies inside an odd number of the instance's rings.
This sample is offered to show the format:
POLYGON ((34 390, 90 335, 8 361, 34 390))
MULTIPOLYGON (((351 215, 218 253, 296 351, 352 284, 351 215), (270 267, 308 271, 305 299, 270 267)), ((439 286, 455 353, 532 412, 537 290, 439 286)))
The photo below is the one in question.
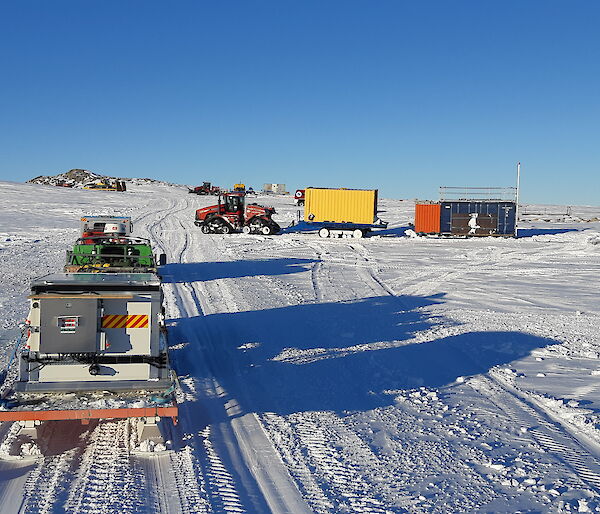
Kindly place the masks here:
POLYGON ((245 193, 223 193, 219 203, 196 211, 194 222, 203 234, 229 234, 241 230, 244 234, 269 236, 281 230, 271 216, 273 207, 251 203, 246 205, 245 193))

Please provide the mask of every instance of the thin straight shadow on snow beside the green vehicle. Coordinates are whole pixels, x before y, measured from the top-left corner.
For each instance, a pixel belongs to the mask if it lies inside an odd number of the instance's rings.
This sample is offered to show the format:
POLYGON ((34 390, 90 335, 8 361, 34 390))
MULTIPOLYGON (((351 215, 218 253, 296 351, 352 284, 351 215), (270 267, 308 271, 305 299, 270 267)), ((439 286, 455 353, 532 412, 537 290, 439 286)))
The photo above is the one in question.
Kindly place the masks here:
POLYGON ((198 282, 220 278, 256 275, 288 275, 310 269, 314 259, 263 259, 227 262, 190 262, 165 264, 160 268, 163 282, 198 282))

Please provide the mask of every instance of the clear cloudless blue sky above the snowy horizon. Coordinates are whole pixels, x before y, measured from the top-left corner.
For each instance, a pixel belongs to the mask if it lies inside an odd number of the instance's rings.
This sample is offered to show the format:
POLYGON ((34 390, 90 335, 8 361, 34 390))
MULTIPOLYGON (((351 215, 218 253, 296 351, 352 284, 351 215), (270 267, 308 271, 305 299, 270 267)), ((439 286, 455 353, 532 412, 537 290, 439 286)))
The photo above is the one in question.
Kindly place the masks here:
POLYGON ((600 2, 0 3, 0 180, 600 204, 600 2))

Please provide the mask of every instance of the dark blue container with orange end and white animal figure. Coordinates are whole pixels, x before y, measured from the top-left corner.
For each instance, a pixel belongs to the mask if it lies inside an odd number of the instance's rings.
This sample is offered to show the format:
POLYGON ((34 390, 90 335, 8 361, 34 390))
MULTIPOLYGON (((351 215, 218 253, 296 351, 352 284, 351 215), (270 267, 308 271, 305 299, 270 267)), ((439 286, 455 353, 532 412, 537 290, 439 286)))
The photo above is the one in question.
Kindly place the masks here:
POLYGON ((440 188, 440 201, 415 204, 415 232, 447 237, 516 237, 515 188, 440 188))

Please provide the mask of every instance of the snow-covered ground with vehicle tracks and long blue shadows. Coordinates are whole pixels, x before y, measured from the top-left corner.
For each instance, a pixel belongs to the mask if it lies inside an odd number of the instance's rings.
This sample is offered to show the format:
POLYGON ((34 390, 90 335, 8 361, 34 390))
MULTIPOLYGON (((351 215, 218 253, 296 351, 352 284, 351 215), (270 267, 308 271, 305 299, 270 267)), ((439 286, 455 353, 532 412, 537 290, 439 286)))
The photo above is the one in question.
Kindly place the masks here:
POLYGON ((50 422, 23 456, 0 424, 2 513, 600 512, 600 207, 527 206, 518 239, 410 237, 409 200, 366 239, 203 235, 214 197, 129 189, 0 182, 0 362, 79 218, 130 215, 167 254, 179 424, 150 455, 128 420, 50 422))

